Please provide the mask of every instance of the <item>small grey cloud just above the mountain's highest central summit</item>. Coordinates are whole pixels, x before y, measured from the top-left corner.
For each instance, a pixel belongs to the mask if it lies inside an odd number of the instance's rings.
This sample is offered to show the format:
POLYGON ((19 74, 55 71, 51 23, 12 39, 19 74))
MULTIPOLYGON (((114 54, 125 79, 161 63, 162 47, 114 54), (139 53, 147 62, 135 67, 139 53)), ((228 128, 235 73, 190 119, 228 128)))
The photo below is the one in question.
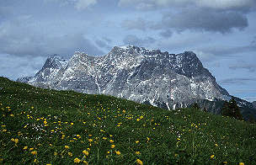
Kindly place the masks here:
POLYGON ((146 39, 139 39, 136 35, 126 35, 123 42, 125 45, 145 46, 155 43, 156 40, 152 37, 147 37, 146 39))

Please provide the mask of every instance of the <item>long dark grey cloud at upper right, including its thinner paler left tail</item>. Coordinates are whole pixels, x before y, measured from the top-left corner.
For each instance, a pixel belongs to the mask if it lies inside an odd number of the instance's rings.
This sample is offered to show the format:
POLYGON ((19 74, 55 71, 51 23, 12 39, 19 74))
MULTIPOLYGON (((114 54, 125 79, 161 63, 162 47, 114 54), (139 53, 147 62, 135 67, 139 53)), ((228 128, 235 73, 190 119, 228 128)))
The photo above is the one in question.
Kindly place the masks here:
POLYGON ((164 13, 162 21, 152 22, 145 19, 125 20, 121 26, 125 29, 161 30, 160 35, 170 36, 173 31, 184 30, 210 31, 225 34, 232 29, 243 30, 248 27, 245 13, 237 11, 220 11, 205 8, 183 8, 175 13, 164 13))

